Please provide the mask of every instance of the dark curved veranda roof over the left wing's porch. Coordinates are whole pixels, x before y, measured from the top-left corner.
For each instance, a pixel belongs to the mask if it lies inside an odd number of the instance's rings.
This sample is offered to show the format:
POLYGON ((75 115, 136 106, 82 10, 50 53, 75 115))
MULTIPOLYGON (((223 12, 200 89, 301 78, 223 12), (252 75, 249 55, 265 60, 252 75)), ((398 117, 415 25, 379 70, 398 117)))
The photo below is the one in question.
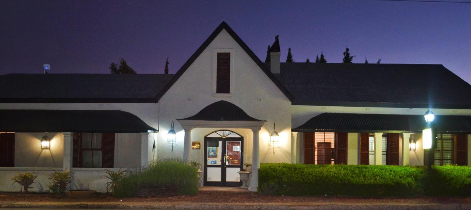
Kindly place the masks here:
POLYGON ((136 115, 118 110, 0 110, 0 119, 2 132, 157 131, 136 115))

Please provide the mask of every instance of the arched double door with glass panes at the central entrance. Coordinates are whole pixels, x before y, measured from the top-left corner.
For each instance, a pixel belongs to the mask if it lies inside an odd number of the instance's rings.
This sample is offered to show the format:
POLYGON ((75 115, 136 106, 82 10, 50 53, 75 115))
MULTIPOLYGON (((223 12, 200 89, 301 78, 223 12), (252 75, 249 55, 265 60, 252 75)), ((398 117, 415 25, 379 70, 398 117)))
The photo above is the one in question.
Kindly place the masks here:
POLYGON ((204 186, 240 186, 244 138, 230 130, 212 132, 204 137, 204 160, 204 186))

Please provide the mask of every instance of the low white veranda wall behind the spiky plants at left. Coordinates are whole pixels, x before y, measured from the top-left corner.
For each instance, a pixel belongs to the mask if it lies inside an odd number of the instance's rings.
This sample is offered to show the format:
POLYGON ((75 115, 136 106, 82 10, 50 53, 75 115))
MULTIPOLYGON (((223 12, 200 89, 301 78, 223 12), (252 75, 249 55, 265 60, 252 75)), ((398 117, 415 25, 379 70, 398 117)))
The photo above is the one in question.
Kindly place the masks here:
MULTIPOLYGON (((15 177, 18 173, 36 172, 38 178, 29 189, 32 192, 49 192, 47 185, 49 184, 49 175, 53 170, 63 171, 62 168, 0 168, 0 191, 13 191, 19 192, 20 185, 13 184, 11 178, 15 177), (13 185, 12 185, 13 184, 13 185)), ((117 171, 119 169, 109 169, 117 171)), ((125 169, 122 169, 125 170, 125 169)), ((72 190, 90 189, 97 192, 106 192, 106 182, 108 178, 101 177, 106 175, 103 173, 105 169, 92 169, 92 168, 73 168, 73 182, 72 190)), ((23 190, 23 189, 22 189, 23 190)))

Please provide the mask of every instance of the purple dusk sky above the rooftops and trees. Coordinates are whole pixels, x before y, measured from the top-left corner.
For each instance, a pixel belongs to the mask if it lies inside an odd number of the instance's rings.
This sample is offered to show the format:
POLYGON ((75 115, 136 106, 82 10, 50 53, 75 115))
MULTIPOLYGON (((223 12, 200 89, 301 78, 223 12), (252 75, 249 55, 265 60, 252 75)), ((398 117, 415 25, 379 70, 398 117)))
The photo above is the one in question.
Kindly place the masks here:
MULTIPOLYGON (((282 60, 443 64, 471 83, 471 4, 374 0, 0 0, 0 74, 109 73, 123 57, 138 73, 175 73, 226 21, 263 61, 280 35, 282 60)), ((403 84, 407 85, 407 84, 403 84)))

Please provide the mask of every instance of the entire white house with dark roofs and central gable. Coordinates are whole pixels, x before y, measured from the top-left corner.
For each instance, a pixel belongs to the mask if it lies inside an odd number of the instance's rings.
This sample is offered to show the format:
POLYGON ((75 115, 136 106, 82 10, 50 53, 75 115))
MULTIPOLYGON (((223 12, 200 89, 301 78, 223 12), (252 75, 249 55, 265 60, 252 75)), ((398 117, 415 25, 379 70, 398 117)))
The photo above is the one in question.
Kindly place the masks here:
POLYGON ((43 191, 64 168, 105 191, 103 168, 170 157, 202 163, 207 186, 240 186, 250 162, 250 191, 260 163, 423 165, 429 109, 433 163, 471 164, 471 86, 443 65, 280 63, 278 37, 270 51, 223 22, 176 74, 1 75, 0 191, 25 171, 43 191))

